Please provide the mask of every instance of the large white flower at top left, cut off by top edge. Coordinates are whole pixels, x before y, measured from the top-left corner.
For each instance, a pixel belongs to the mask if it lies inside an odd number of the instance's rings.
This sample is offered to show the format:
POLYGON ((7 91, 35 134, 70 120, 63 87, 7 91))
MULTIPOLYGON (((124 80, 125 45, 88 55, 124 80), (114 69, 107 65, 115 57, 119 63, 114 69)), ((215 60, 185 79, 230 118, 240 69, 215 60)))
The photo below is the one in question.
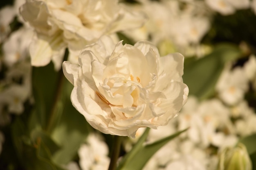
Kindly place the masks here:
POLYGON ((139 27, 145 20, 118 0, 27 0, 20 13, 37 33, 30 50, 34 66, 61 58, 66 47, 81 50, 102 35, 139 27))

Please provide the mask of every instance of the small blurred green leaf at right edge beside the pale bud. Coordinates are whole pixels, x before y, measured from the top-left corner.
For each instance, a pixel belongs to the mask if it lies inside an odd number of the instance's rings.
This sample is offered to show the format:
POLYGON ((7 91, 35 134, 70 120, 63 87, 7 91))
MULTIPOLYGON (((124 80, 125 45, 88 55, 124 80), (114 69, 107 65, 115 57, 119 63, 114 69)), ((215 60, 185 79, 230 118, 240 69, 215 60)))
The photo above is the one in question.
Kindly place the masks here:
POLYGON ((247 148, 248 154, 252 155, 256 153, 256 133, 249 135, 247 137, 243 137, 242 139, 240 139, 241 143, 243 143, 245 145, 245 147, 247 148))

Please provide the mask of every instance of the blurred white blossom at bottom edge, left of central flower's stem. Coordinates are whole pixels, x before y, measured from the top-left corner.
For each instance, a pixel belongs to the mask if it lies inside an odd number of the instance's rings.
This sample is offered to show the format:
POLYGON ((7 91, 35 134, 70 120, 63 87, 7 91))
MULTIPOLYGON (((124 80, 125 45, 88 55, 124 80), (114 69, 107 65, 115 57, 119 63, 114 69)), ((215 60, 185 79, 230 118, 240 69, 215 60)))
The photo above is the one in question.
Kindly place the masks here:
POLYGON ((108 146, 100 135, 90 133, 87 144, 82 144, 78 150, 79 165, 82 170, 107 170, 110 158, 108 146))

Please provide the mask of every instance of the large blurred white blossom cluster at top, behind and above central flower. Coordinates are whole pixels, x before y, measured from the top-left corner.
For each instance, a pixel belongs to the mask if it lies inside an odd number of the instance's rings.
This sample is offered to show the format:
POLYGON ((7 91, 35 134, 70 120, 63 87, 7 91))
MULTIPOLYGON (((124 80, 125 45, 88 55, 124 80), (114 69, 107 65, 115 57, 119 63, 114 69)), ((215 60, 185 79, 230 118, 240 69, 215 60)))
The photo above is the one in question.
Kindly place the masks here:
POLYGON ((139 29, 124 33, 135 41, 148 39, 155 45, 169 40, 173 43, 171 48, 182 51, 191 44, 199 44, 210 28, 209 17, 202 12, 204 3, 189 2, 184 9, 180 9, 179 3, 172 0, 146 1, 133 6, 147 14, 148 22, 139 29))

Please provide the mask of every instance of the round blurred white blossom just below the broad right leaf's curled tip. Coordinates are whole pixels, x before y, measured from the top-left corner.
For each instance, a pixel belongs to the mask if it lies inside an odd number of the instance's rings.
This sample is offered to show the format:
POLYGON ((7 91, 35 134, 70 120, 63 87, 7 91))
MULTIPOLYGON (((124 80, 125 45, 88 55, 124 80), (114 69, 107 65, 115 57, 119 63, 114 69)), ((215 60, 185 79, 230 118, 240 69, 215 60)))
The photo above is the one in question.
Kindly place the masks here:
POLYGON ((227 105, 235 105, 244 98, 249 88, 248 78, 243 68, 225 69, 216 85, 220 99, 227 105))

